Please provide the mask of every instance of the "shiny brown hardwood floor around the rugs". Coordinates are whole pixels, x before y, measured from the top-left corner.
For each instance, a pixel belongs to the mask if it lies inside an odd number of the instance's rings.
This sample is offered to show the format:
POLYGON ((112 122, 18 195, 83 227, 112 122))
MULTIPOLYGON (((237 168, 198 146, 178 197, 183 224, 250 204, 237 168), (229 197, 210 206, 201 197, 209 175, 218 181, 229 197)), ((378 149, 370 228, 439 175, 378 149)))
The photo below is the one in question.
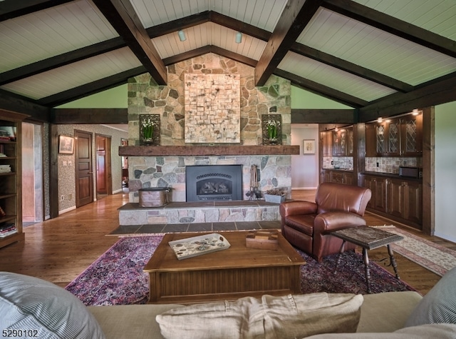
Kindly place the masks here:
MULTIPOLYGON (((314 196, 315 191, 293 191, 294 199, 314 201, 314 196)), ((58 218, 26 227, 24 242, 0 249, 0 270, 32 275, 66 286, 118 241, 115 236, 105 235, 118 227, 117 209, 125 203, 128 203, 128 194, 106 196, 58 218)), ((366 213, 366 220, 369 225, 397 226, 372 213, 366 213)), ((424 238, 456 250, 455 243, 437 237, 424 238)), ((378 248, 370 251, 369 256, 371 260, 381 260, 388 258, 388 253, 386 248, 378 248)), ((439 275, 400 255, 396 255, 396 259, 400 277, 422 294, 440 280, 439 275)), ((393 268, 387 269, 393 272, 393 268)))

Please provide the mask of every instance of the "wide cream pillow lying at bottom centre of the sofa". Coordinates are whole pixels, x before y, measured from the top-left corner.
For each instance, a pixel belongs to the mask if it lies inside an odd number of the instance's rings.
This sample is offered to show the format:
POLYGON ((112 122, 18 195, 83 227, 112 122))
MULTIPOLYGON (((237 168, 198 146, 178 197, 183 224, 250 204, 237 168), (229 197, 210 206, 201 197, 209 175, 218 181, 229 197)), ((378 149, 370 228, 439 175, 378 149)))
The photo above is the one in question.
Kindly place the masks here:
POLYGON ((311 293, 190 305, 157 315, 165 338, 304 338, 355 332, 363 295, 311 293))

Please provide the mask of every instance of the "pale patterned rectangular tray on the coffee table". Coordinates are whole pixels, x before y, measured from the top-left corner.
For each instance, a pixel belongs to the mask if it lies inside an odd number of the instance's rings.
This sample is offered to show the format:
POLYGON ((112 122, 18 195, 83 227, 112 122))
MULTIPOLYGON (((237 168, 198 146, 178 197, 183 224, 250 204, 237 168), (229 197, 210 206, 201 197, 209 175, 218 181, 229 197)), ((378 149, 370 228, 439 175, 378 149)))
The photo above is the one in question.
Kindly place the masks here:
POLYGON ((219 233, 209 233, 177 241, 170 241, 170 246, 177 259, 193 258, 198 255, 227 250, 229 242, 219 233))

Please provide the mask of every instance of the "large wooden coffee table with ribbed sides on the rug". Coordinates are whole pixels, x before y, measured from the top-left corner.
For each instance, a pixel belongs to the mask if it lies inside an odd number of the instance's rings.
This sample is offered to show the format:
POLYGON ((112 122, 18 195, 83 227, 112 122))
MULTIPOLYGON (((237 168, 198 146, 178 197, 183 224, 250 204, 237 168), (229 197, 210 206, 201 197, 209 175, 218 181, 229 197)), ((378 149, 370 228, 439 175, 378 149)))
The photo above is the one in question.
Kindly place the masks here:
POLYGON ((219 232, 231 246, 224 251, 177 260, 169 245, 204 233, 168 233, 145 265, 149 303, 201 303, 264 294, 301 293, 305 261, 279 233, 279 248, 247 248, 248 231, 219 232))

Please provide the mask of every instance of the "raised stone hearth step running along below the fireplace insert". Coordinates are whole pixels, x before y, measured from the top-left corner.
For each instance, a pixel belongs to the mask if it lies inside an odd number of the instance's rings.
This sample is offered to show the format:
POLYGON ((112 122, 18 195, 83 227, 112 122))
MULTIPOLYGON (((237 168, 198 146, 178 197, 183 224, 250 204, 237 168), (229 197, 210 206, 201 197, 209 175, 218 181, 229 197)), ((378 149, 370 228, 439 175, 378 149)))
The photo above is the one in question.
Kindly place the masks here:
POLYGON ((172 202, 161 207, 141 207, 139 203, 126 203, 119 208, 121 226, 279 220, 279 204, 261 200, 172 202))

